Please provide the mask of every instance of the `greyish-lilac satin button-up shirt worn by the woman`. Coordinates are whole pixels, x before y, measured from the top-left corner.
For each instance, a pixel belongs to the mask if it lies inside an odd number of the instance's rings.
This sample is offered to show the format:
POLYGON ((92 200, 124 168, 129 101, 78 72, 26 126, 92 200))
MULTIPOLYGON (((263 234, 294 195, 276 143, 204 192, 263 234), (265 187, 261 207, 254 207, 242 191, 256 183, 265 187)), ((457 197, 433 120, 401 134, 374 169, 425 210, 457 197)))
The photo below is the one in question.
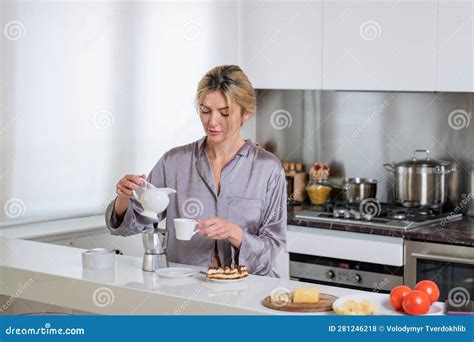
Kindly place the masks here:
MULTIPOLYGON (((275 259, 286 244, 286 181, 278 158, 246 140, 223 168, 217 194, 211 165, 204 149, 206 137, 166 152, 147 180, 156 187, 177 191, 157 220, 167 218, 168 259, 171 262, 209 267, 215 240, 195 235, 189 241, 176 239, 173 219, 217 216, 243 229, 240 249, 227 240, 217 240, 224 265, 246 265, 252 274, 278 276, 275 259)), ((114 201, 106 211, 106 224, 113 235, 133 235, 152 226, 141 216, 142 205, 131 198, 120 222, 114 201)))

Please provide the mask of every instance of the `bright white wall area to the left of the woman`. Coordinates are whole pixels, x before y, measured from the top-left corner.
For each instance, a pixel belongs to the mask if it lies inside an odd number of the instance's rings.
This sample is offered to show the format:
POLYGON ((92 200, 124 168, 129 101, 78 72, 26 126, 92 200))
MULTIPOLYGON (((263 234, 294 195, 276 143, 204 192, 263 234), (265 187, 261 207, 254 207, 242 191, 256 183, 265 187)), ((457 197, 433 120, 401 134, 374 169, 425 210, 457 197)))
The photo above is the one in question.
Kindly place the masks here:
POLYGON ((235 1, 0 6, 0 222, 103 211, 123 174, 203 135, 197 83, 238 62, 235 1))

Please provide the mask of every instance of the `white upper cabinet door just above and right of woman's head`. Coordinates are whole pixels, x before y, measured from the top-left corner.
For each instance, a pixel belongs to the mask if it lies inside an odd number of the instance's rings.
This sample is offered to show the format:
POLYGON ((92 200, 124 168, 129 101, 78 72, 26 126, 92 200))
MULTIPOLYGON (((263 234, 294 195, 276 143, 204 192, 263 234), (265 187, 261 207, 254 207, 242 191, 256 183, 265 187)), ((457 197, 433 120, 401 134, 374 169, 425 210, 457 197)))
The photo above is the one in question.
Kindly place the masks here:
POLYGON ((242 1, 240 32, 255 88, 321 89, 321 0, 242 1))

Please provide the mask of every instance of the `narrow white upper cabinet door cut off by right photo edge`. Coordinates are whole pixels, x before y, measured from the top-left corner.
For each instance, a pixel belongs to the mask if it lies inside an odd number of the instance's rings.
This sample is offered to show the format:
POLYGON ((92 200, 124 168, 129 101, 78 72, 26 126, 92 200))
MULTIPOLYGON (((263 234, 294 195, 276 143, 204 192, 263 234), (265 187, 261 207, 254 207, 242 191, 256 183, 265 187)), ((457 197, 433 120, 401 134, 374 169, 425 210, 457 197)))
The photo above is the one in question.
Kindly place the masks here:
POLYGON ((439 0, 436 90, 474 91, 473 31, 473 0, 439 0))

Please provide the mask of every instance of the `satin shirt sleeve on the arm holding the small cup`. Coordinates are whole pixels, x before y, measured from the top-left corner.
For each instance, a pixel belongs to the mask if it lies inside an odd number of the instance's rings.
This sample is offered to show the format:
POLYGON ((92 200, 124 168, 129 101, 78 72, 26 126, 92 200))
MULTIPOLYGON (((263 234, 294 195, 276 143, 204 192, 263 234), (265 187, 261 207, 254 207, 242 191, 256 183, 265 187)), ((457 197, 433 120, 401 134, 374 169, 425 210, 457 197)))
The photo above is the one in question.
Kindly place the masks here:
POLYGON ((244 230, 240 249, 233 248, 238 263, 247 266, 251 274, 278 276, 274 267, 278 253, 286 245, 286 197, 285 173, 280 169, 269 181, 258 234, 244 230))

